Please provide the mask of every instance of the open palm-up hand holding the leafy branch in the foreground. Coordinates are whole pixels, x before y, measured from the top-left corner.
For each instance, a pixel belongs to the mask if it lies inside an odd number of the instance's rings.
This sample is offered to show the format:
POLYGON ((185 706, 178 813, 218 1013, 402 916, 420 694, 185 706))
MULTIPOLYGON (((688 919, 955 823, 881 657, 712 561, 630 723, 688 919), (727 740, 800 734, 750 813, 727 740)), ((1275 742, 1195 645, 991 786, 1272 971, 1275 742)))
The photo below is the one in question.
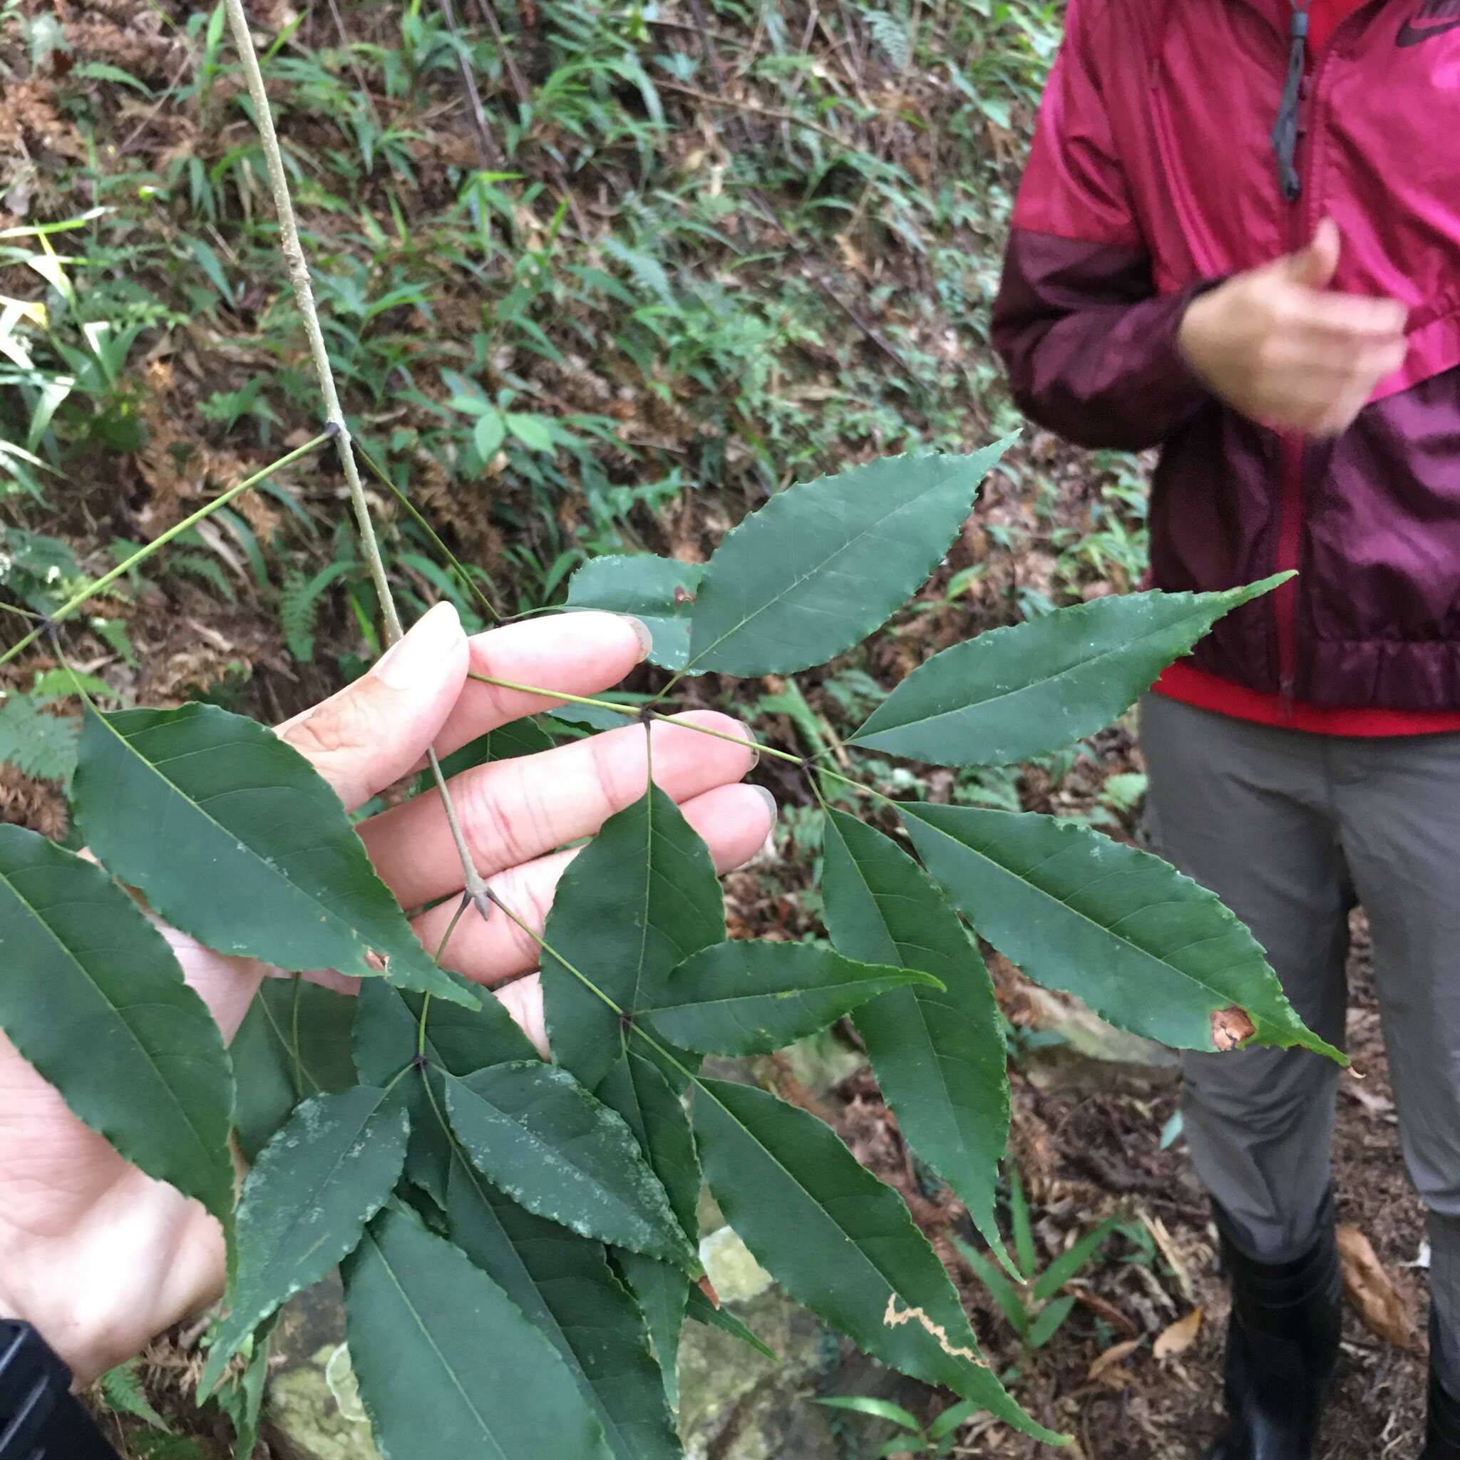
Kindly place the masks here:
MULTIPOLYGON (((445 755, 553 704, 467 679, 469 669, 591 695, 644 657, 641 632, 642 625, 616 615, 575 613, 469 641, 450 604, 438 604, 366 676, 277 733, 355 807, 418 769, 429 745, 445 755)), ((727 715, 682 718, 749 740, 727 715)), ((736 784, 755 764, 753 750, 664 721, 651 734, 654 780, 680 803, 715 866, 724 872, 749 858, 774 816, 764 791, 736 784)), ((454 778, 453 800, 477 869, 530 927, 542 930, 574 856, 555 848, 594 834, 644 793, 644 736, 631 723, 454 778)), ((403 907, 461 891, 435 796, 371 818, 361 835, 403 907)), ((415 920, 432 950, 454 902, 415 920)), ((162 931, 232 1040, 260 983, 277 969, 162 931)), ((507 917, 473 915, 461 920, 444 964, 495 984, 536 968, 537 945, 507 917)), ((545 1048, 537 980, 510 984, 502 1002, 545 1048)), ((223 1238, 213 1218, 123 1161, 0 1034, 0 1315, 34 1323, 85 1383, 212 1302, 222 1286, 223 1238)))

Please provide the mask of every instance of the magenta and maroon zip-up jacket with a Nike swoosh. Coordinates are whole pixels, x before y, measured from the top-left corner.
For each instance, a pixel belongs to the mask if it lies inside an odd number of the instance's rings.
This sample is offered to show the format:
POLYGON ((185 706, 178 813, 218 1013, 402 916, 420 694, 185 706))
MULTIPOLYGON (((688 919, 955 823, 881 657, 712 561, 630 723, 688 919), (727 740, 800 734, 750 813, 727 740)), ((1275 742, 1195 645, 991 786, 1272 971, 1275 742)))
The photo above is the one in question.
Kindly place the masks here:
POLYGON ((1299 58, 1285 187, 1289 18, 1288 0, 1070 0, 994 343, 1051 431, 1161 447, 1156 587, 1299 571, 1218 623, 1197 667, 1313 705, 1460 710, 1460 0, 1369 0, 1299 58), (1194 292, 1324 215, 1333 286, 1409 308, 1403 368, 1336 441, 1228 410, 1175 349, 1194 292))

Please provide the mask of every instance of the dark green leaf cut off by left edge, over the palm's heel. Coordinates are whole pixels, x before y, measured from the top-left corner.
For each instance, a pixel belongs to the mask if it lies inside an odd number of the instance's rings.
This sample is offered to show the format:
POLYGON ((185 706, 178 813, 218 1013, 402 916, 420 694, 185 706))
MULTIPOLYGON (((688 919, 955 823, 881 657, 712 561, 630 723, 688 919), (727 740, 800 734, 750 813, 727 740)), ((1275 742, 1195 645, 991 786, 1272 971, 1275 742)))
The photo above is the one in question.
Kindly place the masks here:
POLYGON ((76 1117, 225 1228, 234 1076, 166 939, 91 861, 0 826, 0 1028, 76 1117))

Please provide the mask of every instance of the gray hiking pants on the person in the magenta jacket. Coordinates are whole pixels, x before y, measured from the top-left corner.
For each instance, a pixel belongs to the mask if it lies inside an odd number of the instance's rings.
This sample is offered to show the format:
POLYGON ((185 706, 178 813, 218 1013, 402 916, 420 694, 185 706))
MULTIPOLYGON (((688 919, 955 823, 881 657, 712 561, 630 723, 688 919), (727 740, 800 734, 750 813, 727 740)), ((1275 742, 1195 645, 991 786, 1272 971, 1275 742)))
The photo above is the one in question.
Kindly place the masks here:
MULTIPOLYGON (((1429 1212, 1435 1362, 1460 1394, 1460 734, 1314 736, 1148 695, 1140 745, 1156 850, 1247 923, 1339 1048, 1348 912, 1368 912, 1400 1143, 1429 1212)), ((1197 1175, 1238 1245, 1299 1256, 1352 1076, 1307 1050, 1187 1054, 1184 1076, 1197 1175)))

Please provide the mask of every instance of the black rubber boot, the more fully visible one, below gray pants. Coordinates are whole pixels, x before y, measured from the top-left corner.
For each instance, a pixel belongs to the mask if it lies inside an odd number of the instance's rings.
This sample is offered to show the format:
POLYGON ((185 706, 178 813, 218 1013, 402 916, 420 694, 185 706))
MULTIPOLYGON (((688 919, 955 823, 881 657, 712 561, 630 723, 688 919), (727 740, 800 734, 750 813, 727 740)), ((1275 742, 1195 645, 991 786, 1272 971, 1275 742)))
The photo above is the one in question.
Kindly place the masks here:
POLYGON ((1332 1199, 1318 1238, 1295 1261, 1247 1257, 1226 1235, 1222 1212, 1218 1231, 1232 1285, 1228 1424, 1207 1460, 1310 1460, 1339 1356, 1343 1279, 1332 1199))

